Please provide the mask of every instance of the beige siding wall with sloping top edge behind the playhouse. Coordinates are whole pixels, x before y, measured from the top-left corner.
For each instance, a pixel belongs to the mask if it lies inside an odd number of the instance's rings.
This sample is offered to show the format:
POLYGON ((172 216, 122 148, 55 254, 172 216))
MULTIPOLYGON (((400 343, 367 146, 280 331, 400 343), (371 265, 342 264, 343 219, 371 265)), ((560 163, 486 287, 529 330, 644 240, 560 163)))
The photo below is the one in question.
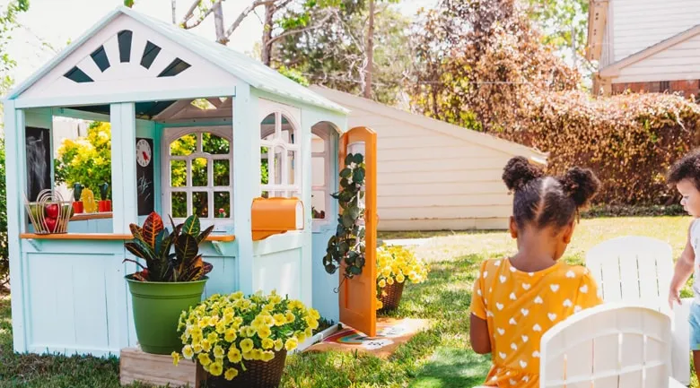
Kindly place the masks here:
POLYGON ((435 128, 445 123, 427 119, 433 126, 425 125, 424 116, 314 90, 351 110, 348 127, 377 133, 380 230, 507 228, 512 197, 501 180, 503 166, 516 154, 541 154, 500 139, 512 150, 485 146, 469 141, 465 128, 449 125, 459 131, 445 134, 435 128))

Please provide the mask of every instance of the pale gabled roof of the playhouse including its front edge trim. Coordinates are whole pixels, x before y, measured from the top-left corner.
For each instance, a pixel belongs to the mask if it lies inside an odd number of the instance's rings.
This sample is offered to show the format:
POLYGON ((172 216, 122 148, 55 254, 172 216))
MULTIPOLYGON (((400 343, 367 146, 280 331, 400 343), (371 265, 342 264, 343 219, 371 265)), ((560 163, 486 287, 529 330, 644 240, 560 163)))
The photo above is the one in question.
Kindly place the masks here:
POLYGON ((258 61, 245 56, 232 48, 225 47, 212 40, 205 39, 188 30, 180 29, 168 22, 162 22, 150 16, 138 13, 125 6, 118 6, 108 13, 101 21, 97 22, 90 30, 87 30, 79 39, 75 39, 68 47, 55 56, 48 64, 42 66, 39 71, 33 73, 26 81, 10 91, 6 99, 17 99, 22 92, 26 91, 42 76, 47 74, 56 65, 60 64, 67 56, 74 52, 88 39, 92 38, 98 31, 115 20, 119 15, 126 14, 146 27, 155 30, 162 35, 169 37, 182 47, 205 58, 208 62, 221 67, 224 71, 232 73, 244 82, 249 83, 253 88, 267 91, 277 96, 301 101, 320 108, 327 108, 336 112, 347 114, 348 110, 333 101, 305 88, 299 83, 293 82, 284 75, 259 63, 258 61))

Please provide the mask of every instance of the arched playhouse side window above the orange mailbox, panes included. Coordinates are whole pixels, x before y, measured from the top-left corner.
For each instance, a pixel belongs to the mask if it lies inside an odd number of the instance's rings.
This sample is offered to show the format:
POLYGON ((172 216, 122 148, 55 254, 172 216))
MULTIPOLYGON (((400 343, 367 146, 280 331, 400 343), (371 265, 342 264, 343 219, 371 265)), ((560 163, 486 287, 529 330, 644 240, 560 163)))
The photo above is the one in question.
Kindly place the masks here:
POLYGON ((260 195, 300 197, 301 147, 292 121, 280 112, 260 123, 260 195))

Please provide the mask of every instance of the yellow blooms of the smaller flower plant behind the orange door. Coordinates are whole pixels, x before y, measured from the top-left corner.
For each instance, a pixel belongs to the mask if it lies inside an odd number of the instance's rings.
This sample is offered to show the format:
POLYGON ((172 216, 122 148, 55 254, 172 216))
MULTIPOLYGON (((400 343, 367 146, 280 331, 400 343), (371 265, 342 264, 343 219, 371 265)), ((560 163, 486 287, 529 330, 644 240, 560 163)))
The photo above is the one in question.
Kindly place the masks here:
POLYGON ((429 268, 424 260, 404 246, 380 246, 377 248, 377 309, 381 309, 381 296, 387 286, 394 283, 422 283, 428 277, 429 268))

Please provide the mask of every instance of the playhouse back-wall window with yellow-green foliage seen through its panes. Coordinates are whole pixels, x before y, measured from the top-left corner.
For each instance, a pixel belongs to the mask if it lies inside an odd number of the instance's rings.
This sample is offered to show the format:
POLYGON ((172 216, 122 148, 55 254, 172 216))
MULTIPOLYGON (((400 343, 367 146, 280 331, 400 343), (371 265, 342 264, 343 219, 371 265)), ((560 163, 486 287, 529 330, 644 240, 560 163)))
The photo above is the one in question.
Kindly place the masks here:
POLYGON ((166 130, 163 208, 175 222, 197 214, 203 223, 232 222, 231 127, 166 130))

